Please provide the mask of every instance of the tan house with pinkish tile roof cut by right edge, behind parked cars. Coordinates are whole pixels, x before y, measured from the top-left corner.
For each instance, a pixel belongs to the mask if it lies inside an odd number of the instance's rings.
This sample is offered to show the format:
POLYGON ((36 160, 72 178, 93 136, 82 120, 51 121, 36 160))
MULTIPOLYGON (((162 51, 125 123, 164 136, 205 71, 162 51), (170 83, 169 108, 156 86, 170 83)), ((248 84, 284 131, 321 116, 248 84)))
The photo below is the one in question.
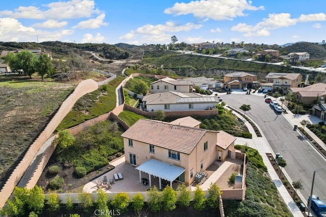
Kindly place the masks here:
POLYGON ((306 87, 290 88, 294 99, 302 104, 326 103, 326 84, 316 83, 306 87))

